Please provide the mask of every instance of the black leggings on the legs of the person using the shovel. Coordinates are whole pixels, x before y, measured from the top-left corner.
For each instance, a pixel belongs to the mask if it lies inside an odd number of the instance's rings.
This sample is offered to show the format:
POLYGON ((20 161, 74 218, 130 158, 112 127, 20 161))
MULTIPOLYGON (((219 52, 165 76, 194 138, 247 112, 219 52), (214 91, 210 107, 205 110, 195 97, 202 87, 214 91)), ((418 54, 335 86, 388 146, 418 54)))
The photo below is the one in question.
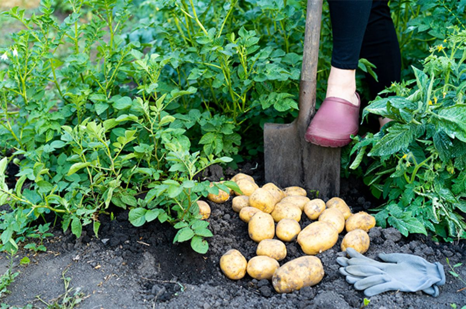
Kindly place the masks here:
POLYGON ((401 55, 388 0, 328 0, 333 32, 332 66, 356 69, 365 58, 377 68, 371 96, 400 81, 401 55))

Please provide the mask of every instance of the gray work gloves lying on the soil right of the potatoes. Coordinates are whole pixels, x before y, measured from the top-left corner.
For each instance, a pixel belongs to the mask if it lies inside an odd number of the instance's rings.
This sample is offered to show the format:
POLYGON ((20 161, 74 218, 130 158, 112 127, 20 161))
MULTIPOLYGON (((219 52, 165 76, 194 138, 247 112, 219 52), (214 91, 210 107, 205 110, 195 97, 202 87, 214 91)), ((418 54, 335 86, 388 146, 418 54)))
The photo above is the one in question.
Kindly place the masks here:
POLYGON ((357 290, 364 290, 365 296, 374 296, 386 291, 423 292, 439 296, 439 285, 445 284, 445 271, 439 262, 429 263, 417 255, 380 253, 377 262, 356 252, 346 249, 351 257, 338 257, 342 267, 340 273, 346 281, 354 284, 357 290))

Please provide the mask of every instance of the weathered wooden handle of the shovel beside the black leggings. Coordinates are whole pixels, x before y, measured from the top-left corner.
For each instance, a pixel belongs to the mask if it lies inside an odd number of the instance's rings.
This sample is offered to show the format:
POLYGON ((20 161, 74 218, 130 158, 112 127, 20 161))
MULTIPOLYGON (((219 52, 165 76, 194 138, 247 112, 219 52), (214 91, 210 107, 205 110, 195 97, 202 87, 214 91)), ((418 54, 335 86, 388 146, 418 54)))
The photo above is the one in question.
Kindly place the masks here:
POLYGON ((299 94, 299 115, 297 125, 304 134, 315 112, 315 91, 317 63, 319 60, 319 39, 322 20, 322 0, 308 0, 304 48, 302 53, 301 83, 299 94))

